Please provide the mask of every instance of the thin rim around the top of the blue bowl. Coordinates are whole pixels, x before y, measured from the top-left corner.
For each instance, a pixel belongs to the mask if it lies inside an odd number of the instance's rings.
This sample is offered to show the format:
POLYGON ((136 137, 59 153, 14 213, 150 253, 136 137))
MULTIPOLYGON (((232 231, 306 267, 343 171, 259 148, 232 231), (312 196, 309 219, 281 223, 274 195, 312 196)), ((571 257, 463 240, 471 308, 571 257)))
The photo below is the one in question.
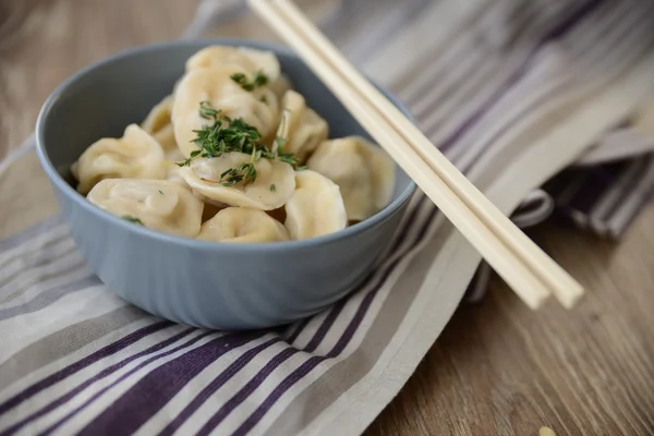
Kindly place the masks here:
MULTIPOLYGON (((197 47, 199 50, 202 47, 207 47, 210 45, 225 45, 225 46, 239 46, 239 47, 250 47, 262 50, 269 50, 275 52, 276 55, 290 56, 302 61, 298 55, 295 55, 291 49, 286 46, 255 40, 255 39, 246 39, 246 38, 202 38, 202 39, 180 39, 172 41, 160 41, 147 45, 135 46, 125 50, 118 51, 113 55, 105 57, 96 62, 93 62, 61 82, 55 90, 48 96, 44 106, 41 107, 38 118, 36 121, 36 152, 38 159, 41 164, 41 167, 45 169, 50 182, 62 192, 63 195, 70 197, 73 202, 80 204, 86 211, 90 213, 97 219, 101 220, 108 226, 122 226, 122 229, 128 232, 134 232, 135 234, 143 238, 153 238, 159 240, 164 243, 172 243, 178 244, 184 247, 192 247, 195 250, 204 250, 204 251, 229 251, 233 253, 234 251, 251 253, 251 252, 278 252, 278 251, 287 251, 292 249, 303 249, 303 247, 315 247, 316 245, 323 245, 327 243, 335 243, 340 240, 349 239, 359 233, 365 233, 377 225, 382 223, 386 219, 388 219, 391 215, 396 214, 400 207, 407 203, 413 193, 416 191, 417 186, 411 178, 409 178, 409 183, 407 187, 400 193, 400 195, 390 202, 386 207, 382 210, 377 211, 372 217, 356 222, 355 225, 349 226, 342 230, 339 230, 334 233, 328 233, 319 237, 303 239, 303 240, 289 240, 289 241, 277 241, 275 243, 270 242, 254 242, 254 243, 238 243, 238 242, 213 242, 213 241, 203 241, 198 239, 182 237, 173 233, 166 233, 159 230, 149 229, 143 226, 135 226, 132 222, 128 222, 126 220, 110 214, 107 210, 92 204, 86 199, 85 196, 80 194, 73 186, 71 186, 59 174, 50 157, 48 156, 47 147, 45 145, 45 125, 49 113, 52 108, 56 106, 57 100, 63 95, 66 89, 72 86, 75 82, 77 82, 81 77, 93 73, 96 70, 102 69, 104 66, 116 62, 121 59, 137 57, 146 52, 156 51, 156 50, 165 50, 171 47, 197 47)), ((390 92, 388 92, 385 87, 379 86, 374 81, 371 82, 378 87, 386 95, 386 97, 393 102, 411 121, 413 118, 407 107, 390 92)), ((395 162, 397 166, 397 162, 395 162)))

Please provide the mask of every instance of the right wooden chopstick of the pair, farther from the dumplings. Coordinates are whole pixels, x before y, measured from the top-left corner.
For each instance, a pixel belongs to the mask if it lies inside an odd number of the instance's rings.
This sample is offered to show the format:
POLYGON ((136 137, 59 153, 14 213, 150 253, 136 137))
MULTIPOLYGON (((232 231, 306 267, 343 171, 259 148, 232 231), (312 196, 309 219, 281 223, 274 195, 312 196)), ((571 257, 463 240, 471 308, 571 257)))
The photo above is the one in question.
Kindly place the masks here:
MULTIPOLYGON (((255 3, 257 3, 255 1, 255 3)), ((261 2, 259 2, 261 3, 261 2)), ((272 0, 287 23, 306 38, 307 43, 348 81, 352 88, 367 98, 373 107, 390 123, 427 162, 440 179, 470 207, 470 209, 501 239, 529 268, 554 292, 565 307, 572 307, 583 294, 583 288, 533 241, 520 231, 488 201, 424 134, 409 121, 382 93, 334 47, 290 0, 272 0)))

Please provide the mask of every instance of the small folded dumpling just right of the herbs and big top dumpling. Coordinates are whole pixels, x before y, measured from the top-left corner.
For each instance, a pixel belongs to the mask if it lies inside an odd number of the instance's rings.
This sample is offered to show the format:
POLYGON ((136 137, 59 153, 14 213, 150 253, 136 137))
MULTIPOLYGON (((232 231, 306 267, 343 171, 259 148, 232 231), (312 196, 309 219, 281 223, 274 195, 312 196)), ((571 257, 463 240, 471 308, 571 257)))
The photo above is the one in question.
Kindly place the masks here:
POLYGON ((304 97, 289 89, 281 101, 284 118, 277 135, 286 138, 284 153, 292 153, 303 162, 318 144, 327 138, 327 122, 306 106, 304 97))

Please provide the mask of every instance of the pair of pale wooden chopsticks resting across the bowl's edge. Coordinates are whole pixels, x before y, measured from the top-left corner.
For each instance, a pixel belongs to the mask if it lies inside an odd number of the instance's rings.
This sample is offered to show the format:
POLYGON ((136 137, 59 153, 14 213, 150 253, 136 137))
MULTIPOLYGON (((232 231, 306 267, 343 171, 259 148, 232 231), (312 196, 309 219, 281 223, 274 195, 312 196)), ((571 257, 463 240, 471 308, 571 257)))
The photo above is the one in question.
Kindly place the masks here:
POLYGON ((290 0, 249 0, 531 308, 583 288, 491 203, 290 0))

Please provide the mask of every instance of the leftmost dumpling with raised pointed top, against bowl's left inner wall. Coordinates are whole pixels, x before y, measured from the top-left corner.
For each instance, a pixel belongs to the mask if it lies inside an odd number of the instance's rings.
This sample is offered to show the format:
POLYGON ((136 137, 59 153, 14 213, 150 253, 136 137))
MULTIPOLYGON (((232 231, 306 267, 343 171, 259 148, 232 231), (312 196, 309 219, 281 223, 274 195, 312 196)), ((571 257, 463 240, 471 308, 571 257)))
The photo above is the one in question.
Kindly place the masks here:
POLYGON ((104 179, 164 179, 164 148, 136 124, 130 124, 121 138, 105 137, 88 147, 71 171, 86 194, 104 179))

